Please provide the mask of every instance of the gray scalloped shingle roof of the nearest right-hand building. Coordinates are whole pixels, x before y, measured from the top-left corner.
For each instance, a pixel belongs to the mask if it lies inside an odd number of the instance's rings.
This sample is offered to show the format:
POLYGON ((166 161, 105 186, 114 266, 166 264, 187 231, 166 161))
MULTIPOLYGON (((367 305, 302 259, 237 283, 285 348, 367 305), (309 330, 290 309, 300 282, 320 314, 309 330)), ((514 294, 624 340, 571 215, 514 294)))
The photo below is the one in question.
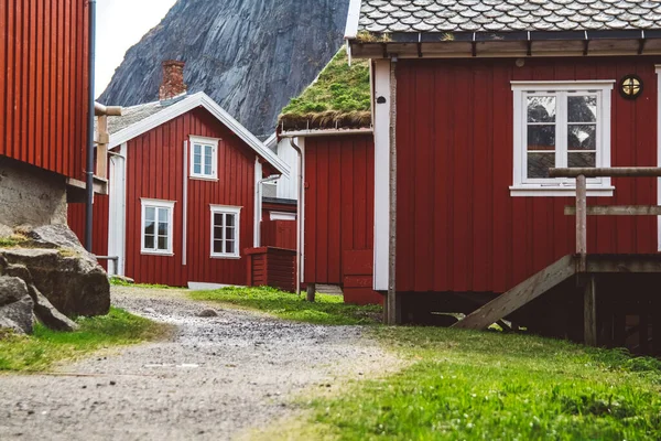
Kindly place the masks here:
POLYGON ((508 32, 661 29, 650 0, 362 0, 359 31, 508 32))

